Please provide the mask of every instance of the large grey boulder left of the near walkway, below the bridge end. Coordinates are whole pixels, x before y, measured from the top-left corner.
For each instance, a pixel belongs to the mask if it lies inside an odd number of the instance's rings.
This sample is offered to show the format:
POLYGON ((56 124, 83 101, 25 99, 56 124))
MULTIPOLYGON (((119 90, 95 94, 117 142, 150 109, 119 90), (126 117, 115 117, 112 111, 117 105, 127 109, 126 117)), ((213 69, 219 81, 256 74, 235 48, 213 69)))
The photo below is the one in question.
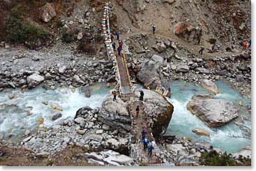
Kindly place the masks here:
POLYGON ((109 94, 103 101, 99 113, 98 118, 104 124, 113 129, 130 131, 130 113, 128 113, 127 104, 120 98, 116 98, 116 101, 113 101, 112 95, 109 94))

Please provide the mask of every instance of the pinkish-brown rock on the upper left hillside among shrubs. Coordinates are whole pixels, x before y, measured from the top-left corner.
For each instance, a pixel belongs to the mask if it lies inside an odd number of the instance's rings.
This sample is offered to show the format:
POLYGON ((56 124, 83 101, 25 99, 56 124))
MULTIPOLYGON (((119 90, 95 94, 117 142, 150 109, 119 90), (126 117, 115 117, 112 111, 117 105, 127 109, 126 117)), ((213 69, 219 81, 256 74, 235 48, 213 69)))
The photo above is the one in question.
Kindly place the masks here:
POLYGON ((46 3, 45 6, 40 8, 40 19, 43 22, 50 22, 50 20, 56 16, 53 3, 46 3))

